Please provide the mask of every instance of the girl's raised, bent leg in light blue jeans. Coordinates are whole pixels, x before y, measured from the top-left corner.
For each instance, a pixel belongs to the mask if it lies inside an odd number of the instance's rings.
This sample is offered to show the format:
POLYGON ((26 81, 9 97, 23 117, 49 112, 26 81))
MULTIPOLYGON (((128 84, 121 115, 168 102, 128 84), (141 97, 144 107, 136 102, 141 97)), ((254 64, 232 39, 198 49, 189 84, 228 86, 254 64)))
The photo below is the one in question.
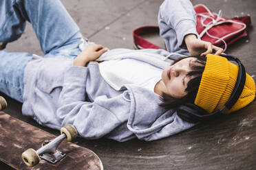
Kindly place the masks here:
POLYGON ((78 26, 58 0, 1 0, 0 41, 17 40, 32 23, 43 53, 81 42, 78 26))

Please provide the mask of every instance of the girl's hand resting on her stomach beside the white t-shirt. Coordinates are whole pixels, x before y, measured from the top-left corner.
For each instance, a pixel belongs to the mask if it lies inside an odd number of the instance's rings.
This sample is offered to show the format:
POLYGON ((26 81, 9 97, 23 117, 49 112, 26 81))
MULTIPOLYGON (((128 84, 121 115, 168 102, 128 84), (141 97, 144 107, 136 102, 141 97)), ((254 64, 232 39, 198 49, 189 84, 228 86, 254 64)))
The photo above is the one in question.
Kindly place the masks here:
POLYGON ((89 45, 75 58, 73 65, 85 66, 88 62, 99 58, 106 51, 107 48, 103 45, 89 45))

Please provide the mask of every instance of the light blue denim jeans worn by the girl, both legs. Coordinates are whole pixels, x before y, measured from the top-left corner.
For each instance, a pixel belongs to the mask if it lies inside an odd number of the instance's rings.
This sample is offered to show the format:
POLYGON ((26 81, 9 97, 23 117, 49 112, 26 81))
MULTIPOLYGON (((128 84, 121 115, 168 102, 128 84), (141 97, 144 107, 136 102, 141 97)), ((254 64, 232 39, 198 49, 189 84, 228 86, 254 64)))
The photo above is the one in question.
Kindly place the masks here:
MULTIPOLYGON (((58 0, 1 0, 0 41, 17 40, 32 24, 44 57, 66 56, 75 58, 82 35, 78 26, 58 0)), ((23 102, 23 76, 30 53, 0 51, 0 91, 23 102)))

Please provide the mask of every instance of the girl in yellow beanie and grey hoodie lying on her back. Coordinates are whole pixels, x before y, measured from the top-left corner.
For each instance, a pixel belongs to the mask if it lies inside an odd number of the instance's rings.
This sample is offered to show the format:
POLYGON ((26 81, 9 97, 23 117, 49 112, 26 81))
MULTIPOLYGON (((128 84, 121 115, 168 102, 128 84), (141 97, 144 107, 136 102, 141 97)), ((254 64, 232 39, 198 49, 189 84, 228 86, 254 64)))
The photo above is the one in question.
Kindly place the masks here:
MULTIPOLYGON (((1 50, 0 90, 21 101, 23 114, 41 125, 60 129, 70 123, 87 139, 153 141, 198 123, 179 116, 183 104, 209 115, 222 110, 237 82, 239 67, 218 56, 223 49, 197 38, 189 0, 160 6, 158 24, 168 51, 109 50, 84 40, 57 0, 2 0, 0 8, 1 49, 21 36, 28 21, 44 53, 1 50)), ((242 88, 226 113, 255 99, 248 74, 242 88)))

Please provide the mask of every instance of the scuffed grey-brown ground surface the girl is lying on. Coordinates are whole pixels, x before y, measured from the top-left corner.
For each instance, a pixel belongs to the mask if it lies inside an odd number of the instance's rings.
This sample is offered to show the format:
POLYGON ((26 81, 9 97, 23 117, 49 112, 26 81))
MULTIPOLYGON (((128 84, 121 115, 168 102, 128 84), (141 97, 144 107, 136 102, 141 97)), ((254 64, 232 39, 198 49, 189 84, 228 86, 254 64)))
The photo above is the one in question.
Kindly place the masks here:
MULTIPOLYGON (((256 74, 256 3, 254 0, 191 0, 203 3, 213 12, 222 10, 223 16, 250 14, 252 27, 248 37, 228 47, 246 66, 250 75, 256 74)), ((142 25, 157 25, 162 0, 63 0, 83 35, 105 45, 133 48, 132 31, 142 25)), ((159 39, 158 42, 162 43, 159 39)), ((28 24, 23 36, 8 45, 9 51, 28 51, 41 55, 39 42, 28 24)), ((255 79, 255 77, 254 77, 255 79)), ((12 116, 53 134, 55 130, 38 125, 21 115, 21 104, 7 98, 12 116)), ((193 127, 178 135, 146 143, 132 140, 117 143, 107 139, 76 143, 92 149, 103 160, 105 169, 256 169, 256 104, 239 110, 228 118, 193 127)))

